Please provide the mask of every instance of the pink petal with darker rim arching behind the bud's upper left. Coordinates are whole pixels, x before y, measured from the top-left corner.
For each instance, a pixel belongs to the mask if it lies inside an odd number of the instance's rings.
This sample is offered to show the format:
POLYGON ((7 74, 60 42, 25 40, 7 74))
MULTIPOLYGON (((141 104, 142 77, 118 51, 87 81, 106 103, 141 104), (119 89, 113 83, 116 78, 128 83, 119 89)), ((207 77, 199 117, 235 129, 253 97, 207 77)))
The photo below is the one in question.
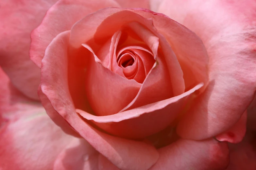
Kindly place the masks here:
POLYGON ((29 51, 31 60, 41 68, 45 49, 56 35, 70 30, 74 23, 84 16, 105 7, 119 7, 119 5, 112 0, 58 1, 47 11, 42 23, 31 33, 32 42, 29 51))

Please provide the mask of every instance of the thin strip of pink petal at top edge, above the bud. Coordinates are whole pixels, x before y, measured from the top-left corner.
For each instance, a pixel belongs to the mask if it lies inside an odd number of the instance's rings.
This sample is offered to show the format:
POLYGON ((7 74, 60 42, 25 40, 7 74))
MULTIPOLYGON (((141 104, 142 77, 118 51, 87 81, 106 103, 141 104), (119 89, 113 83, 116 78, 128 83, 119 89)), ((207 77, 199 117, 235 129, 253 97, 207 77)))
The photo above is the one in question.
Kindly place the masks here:
POLYGON ((149 8, 148 0, 115 0, 122 8, 149 8))

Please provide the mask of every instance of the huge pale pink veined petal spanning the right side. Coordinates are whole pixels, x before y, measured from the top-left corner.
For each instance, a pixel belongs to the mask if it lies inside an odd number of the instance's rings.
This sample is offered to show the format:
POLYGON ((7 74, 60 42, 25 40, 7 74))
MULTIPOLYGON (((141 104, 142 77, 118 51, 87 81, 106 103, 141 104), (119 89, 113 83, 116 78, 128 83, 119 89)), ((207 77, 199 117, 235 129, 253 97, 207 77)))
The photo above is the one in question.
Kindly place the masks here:
POLYGON ((194 31, 209 55, 210 83, 179 122, 178 134, 200 140, 228 130, 240 119, 256 90, 256 2, 157 2, 156 11, 194 31))

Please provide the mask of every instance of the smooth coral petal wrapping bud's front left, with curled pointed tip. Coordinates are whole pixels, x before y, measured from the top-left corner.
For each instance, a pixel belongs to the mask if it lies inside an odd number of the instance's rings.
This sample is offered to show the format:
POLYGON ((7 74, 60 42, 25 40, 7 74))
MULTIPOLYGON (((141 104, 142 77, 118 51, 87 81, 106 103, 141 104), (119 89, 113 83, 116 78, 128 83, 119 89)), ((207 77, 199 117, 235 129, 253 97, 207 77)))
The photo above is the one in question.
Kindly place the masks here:
POLYGON ((104 67, 92 49, 84 44, 83 46, 94 55, 87 68, 85 87, 91 107, 99 116, 118 113, 137 95, 141 84, 104 67))

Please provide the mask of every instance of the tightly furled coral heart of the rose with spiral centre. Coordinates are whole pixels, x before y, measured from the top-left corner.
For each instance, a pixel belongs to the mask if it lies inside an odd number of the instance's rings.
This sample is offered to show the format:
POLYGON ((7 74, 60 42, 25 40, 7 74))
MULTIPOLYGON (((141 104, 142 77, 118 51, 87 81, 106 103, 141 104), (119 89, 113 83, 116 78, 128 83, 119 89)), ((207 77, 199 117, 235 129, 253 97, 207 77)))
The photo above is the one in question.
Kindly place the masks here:
POLYGON ((124 26, 97 52, 98 59, 114 73, 143 83, 157 56, 158 43, 155 42, 158 38, 154 36, 151 39, 154 39, 153 45, 150 40, 144 38, 144 42, 131 28, 124 26))

